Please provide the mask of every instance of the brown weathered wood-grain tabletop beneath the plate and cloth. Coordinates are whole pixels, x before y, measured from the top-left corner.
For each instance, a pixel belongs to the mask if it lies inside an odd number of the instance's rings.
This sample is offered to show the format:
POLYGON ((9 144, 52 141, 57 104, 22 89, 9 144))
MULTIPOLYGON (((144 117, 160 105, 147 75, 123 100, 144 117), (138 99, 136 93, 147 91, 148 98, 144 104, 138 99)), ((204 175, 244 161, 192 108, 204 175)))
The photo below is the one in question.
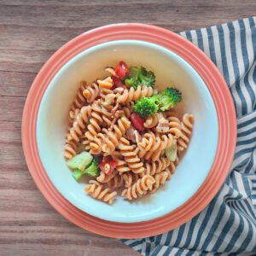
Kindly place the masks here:
POLYGON ((20 122, 40 67, 96 26, 144 22, 174 32, 256 15, 256 1, 0 0, 0 255, 138 255, 81 230, 49 206, 24 160, 20 122))

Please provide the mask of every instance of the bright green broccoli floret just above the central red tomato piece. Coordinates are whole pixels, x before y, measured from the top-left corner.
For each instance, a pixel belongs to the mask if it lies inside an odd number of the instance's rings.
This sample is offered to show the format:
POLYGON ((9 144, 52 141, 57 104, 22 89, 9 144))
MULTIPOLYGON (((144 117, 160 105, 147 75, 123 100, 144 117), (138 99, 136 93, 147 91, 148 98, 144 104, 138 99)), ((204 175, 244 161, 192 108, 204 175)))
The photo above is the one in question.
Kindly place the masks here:
POLYGON ((146 118, 148 115, 158 111, 157 100, 157 96, 143 97, 133 106, 133 111, 146 118))

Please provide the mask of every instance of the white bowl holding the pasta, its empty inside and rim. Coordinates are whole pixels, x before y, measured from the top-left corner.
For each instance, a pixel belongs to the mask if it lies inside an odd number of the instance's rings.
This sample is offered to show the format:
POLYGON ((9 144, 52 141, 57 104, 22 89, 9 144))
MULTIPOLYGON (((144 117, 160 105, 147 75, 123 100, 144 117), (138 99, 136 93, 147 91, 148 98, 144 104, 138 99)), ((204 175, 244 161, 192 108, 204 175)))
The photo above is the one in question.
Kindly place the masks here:
POLYGON ((38 112, 38 151, 45 171, 56 189, 75 207, 95 217, 131 223, 159 218, 195 194, 207 177, 218 144, 218 119, 207 85, 195 70, 172 51, 143 41, 120 40, 85 50, 61 68, 45 91, 38 112), (156 88, 175 86, 183 93, 178 113, 194 113, 195 127, 189 148, 172 179, 155 194, 130 202, 122 197, 109 206, 84 192, 63 157, 67 116, 81 80, 106 76, 104 67, 120 60, 152 70, 156 88))

